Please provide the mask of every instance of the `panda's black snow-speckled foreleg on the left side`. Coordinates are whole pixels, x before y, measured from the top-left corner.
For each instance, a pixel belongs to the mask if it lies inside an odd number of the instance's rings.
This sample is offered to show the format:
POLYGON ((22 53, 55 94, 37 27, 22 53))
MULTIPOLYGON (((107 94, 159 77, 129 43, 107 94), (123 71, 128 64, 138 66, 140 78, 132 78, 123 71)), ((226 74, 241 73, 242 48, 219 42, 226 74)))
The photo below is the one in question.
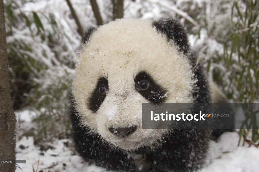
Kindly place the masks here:
POLYGON ((73 126, 73 139, 78 153, 85 161, 103 167, 107 170, 133 172, 135 165, 128 159, 127 153, 107 146, 98 135, 89 134, 89 129, 81 126, 81 119, 73 108, 70 115, 73 126))

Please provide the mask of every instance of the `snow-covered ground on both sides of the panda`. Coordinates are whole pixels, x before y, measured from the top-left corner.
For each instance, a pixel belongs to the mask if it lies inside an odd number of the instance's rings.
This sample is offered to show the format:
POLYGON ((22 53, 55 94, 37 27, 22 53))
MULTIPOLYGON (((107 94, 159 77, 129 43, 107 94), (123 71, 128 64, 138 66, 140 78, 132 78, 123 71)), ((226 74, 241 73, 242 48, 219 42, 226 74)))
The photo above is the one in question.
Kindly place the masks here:
MULTIPOLYGON (((21 121, 18 130, 32 125, 30 119, 35 113, 28 110, 15 113, 21 121)), ((19 135, 19 131, 18 131, 19 135)), ((200 172, 258 172, 259 148, 237 146, 237 132, 226 132, 217 142, 211 141, 208 164, 200 172)), ((33 137, 22 137, 16 143, 16 159, 26 159, 18 164, 16 172, 32 172, 38 165, 38 172, 105 172, 105 169, 88 165, 75 151, 72 140, 61 139, 35 146, 33 137)))

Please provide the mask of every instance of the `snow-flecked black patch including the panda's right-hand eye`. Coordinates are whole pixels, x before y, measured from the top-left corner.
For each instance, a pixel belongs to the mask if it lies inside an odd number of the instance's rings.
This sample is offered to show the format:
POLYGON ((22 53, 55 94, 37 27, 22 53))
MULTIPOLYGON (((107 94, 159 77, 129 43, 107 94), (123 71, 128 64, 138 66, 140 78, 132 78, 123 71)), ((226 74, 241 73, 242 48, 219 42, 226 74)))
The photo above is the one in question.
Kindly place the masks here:
POLYGON ((166 90, 157 84, 147 72, 140 72, 134 78, 136 90, 151 103, 163 103, 166 90))

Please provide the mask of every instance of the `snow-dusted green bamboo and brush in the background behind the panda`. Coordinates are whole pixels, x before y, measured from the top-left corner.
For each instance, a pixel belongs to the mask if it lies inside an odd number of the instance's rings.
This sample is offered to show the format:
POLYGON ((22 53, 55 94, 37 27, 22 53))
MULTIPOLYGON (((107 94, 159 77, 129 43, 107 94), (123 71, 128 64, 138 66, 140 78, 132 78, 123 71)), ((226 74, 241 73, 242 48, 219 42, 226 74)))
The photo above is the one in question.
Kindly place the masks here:
MULTIPOLYGON (((104 24, 112 1, 98 0, 104 24)), ((84 29, 96 26, 89 1, 71 0, 84 29)), ((7 48, 14 109, 36 112, 19 134, 68 138, 69 95, 81 36, 65 0, 5 0, 7 48)), ((232 102, 259 102, 259 2, 256 0, 125 0, 124 18, 174 16, 187 27, 209 79, 232 102)), ((256 126, 253 126, 256 128, 256 126)), ((240 135, 247 134, 241 130, 240 135)), ((259 140, 253 130, 252 140, 259 140)))

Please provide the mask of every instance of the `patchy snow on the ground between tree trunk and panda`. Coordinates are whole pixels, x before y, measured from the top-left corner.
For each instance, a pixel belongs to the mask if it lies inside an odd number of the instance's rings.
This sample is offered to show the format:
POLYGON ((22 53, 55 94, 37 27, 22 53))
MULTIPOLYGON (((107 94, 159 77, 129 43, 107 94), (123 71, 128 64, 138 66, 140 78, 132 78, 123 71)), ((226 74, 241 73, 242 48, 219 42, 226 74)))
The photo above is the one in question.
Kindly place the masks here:
POLYGON ((104 169, 94 165, 88 165, 79 155, 75 154, 73 147, 67 146, 72 143, 69 139, 54 140, 48 143, 53 148, 41 151, 34 144, 33 137, 22 137, 16 143, 16 159, 26 159, 26 164, 18 164, 20 168, 16 168, 16 172, 32 171, 32 167, 36 170, 37 161, 39 160, 38 171, 87 171, 101 172, 104 169))

